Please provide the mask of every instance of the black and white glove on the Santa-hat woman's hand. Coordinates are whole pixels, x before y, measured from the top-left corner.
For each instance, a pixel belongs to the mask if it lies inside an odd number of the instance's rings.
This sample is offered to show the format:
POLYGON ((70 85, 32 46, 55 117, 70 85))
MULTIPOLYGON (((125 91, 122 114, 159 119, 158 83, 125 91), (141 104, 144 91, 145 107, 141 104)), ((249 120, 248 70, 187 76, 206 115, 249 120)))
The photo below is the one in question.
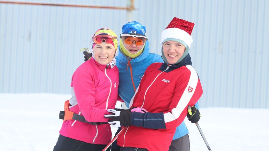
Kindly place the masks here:
POLYGON ((131 115, 132 112, 129 109, 107 109, 112 114, 104 115, 105 118, 109 118, 109 124, 113 127, 130 126, 132 124, 131 115))

